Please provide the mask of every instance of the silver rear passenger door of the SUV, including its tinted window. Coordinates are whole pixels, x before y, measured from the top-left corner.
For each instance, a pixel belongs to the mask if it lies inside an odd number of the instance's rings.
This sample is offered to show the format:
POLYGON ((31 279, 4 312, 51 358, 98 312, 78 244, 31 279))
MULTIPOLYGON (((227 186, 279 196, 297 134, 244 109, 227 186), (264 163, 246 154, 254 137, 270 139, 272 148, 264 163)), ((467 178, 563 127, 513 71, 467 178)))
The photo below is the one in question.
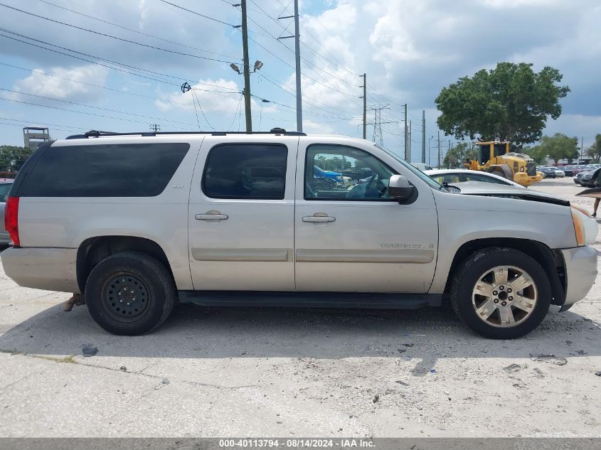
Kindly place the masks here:
POLYGON ((294 289, 298 140, 252 134, 203 141, 188 208, 194 289, 294 289))

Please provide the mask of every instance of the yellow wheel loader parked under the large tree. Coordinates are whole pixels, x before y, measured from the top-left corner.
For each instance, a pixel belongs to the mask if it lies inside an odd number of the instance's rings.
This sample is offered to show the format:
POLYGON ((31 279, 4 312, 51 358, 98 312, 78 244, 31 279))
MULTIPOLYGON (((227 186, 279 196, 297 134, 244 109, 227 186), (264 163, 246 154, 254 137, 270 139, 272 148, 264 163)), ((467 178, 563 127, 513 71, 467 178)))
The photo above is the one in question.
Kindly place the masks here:
POLYGON ((479 146, 479 160, 465 161, 466 168, 494 173, 521 186, 530 186, 543 179, 543 173, 536 171, 536 164, 530 156, 511 151, 511 142, 489 141, 476 144, 479 146))

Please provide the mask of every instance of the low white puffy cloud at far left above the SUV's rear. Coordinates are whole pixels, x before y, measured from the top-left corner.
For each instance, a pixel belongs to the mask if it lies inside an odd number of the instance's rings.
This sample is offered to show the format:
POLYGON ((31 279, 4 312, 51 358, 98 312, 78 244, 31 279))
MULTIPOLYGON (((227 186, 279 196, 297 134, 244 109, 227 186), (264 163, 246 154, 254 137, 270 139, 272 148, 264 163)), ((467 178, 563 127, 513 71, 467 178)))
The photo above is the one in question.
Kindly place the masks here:
MULTIPOLYGON (((26 78, 14 82, 14 90, 23 94, 42 95, 58 100, 85 102, 102 97, 108 69, 100 65, 82 65, 73 68, 51 68, 46 71, 34 69, 26 78), (53 75, 53 76, 48 76, 53 75), (71 81, 73 80, 73 81, 71 81), (89 83, 89 84, 83 84, 89 83)), ((28 95, 13 94, 17 100, 28 99, 28 95)))

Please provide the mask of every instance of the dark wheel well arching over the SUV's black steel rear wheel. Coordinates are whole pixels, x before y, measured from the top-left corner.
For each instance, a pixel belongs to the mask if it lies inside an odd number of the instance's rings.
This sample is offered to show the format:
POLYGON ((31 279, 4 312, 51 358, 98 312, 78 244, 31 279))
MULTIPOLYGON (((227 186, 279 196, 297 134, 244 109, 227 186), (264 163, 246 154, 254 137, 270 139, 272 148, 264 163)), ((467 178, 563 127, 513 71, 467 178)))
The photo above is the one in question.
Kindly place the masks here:
POLYGON ((102 259, 119 252, 142 252, 158 259, 171 273, 171 266, 159 244, 144 237, 98 236, 83 241, 78 249, 77 277, 80 291, 85 289, 87 277, 102 259))

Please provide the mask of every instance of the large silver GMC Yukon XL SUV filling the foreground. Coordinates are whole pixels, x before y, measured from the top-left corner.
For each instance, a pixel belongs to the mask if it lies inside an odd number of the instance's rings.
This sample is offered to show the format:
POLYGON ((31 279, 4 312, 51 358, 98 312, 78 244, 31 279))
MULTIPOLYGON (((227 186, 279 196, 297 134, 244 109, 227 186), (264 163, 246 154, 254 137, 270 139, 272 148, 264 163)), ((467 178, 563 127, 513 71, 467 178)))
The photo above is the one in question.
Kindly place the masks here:
POLYGON ((363 139, 282 129, 41 144, 6 225, 8 277, 80 295, 121 335, 156 329, 177 301, 417 308, 448 294, 472 330, 518 338, 597 276, 597 223, 567 200, 493 183, 447 189, 363 139), (371 179, 321 190, 324 157, 371 179))

